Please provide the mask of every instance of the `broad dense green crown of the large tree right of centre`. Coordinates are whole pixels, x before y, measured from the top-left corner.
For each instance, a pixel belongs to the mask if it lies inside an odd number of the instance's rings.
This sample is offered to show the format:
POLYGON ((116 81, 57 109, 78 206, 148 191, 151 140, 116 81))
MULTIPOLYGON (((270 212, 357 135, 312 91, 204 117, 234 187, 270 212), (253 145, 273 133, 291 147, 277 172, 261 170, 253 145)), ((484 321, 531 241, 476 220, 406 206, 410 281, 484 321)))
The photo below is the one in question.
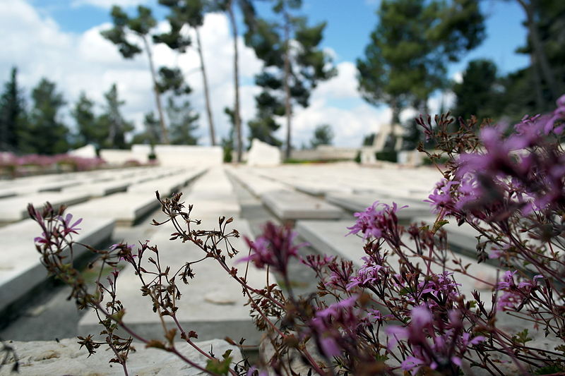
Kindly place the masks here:
POLYGON ((480 44, 484 18, 472 0, 383 0, 377 15, 365 56, 357 59, 359 91, 371 104, 388 104, 399 123, 402 109, 425 107, 446 86, 446 64, 480 44))

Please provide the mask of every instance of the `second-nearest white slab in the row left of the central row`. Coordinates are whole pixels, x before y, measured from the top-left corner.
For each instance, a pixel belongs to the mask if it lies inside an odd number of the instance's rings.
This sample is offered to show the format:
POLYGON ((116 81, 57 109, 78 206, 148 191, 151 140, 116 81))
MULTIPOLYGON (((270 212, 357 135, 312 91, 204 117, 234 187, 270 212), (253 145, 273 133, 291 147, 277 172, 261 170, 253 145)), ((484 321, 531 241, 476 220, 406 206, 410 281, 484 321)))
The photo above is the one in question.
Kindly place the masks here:
POLYGON ((131 225, 159 206, 155 193, 114 193, 76 205, 71 212, 85 218, 112 218, 119 224, 131 225))

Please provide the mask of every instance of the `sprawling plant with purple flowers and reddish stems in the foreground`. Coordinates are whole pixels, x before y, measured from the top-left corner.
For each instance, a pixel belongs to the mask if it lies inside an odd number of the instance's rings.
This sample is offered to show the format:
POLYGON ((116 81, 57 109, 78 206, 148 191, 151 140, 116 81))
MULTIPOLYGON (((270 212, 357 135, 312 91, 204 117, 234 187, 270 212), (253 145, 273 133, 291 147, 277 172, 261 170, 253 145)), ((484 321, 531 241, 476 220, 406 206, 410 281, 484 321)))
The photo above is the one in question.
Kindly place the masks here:
MULTIPOLYGON (((439 148, 439 154, 427 153, 429 157, 449 159, 441 170, 444 178, 427 200, 437 220, 433 226, 403 226, 396 214, 403 207, 395 203, 375 202, 356 213, 348 235, 365 241, 359 267, 340 257, 303 257, 289 226, 268 223, 256 240, 245 239, 249 254, 242 260, 275 272, 279 282, 250 286, 227 262, 238 253, 231 239, 239 233, 226 227, 232 219, 220 218, 218 230, 201 230, 181 195, 161 199, 157 194, 166 220, 154 222, 172 225, 172 240, 194 243, 201 250, 203 258, 188 260, 178 270, 160 264, 156 245, 113 245, 107 251, 94 250, 104 265, 116 269, 107 283, 100 279, 95 293, 88 293, 62 256, 73 244, 69 239, 78 223, 49 207, 42 213, 30 208, 43 231, 36 239, 37 250, 47 269, 73 286, 79 305, 97 310, 108 334, 105 344, 125 371, 132 339, 175 353, 198 368, 174 346, 179 334, 198 348, 193 342, 198 334, 176 320, 182 298, 177 284, 189 284, 194 265, 213 258, 242 287, 257 327, 265 332, 264 345, 273 349, 256 365, 232 365, 225 373, 460 375, 480 370, 505 375, 511 365, 511 372, 519 375, 547 370, 559 375, 565 372, 565 153, 559 145, 565 97, 557 104, 552 114, 525 117, 513 129, 488 122, 479 126, 471 119, 460 121, 459 131, 450 133, 453 119, 448 116, 436 116, 435 126, 429 117, 420 118, 427 138, 439 148), (473 275, 453 253, 442 228, 449 220, 477 232, 477 262, 489 257, 498 262, 504 268, 498 281, 473 275), (292 259, 316 274, 316 291, 300 296, 293 291, 288 275, 292 259), (145 339, 127 326, 117 299, 120 262, 131 265, 155 313, 175 323, 165 333, 166 341, 145 339), (483 296, 478 291, 463 293, 460 277, 475 279, 490 291, 483 296), (557 346, 528 345, 527 329, 506 333, 499 325, 507 315, 557 346), (119 337, 117 327, 129 338, 119 337)), ((102 345, 92 337, 81 338, 81 344, 91 352, 102 345)), ((224 361, 198 351, 210 361, 224 361)), ((198 370, 217 374, 211 368, 198 370)))

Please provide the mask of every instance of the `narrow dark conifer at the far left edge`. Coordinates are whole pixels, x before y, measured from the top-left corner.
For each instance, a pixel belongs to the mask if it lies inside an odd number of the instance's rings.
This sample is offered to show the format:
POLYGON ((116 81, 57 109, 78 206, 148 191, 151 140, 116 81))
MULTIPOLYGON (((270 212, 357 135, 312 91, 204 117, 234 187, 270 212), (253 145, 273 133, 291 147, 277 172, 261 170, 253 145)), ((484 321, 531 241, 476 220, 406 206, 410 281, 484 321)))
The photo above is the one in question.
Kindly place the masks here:
POLYGON ((25 120, 25 100, 18 87, 17 75, 18 69, 13 67, 0 97, 0 150, 18 148, 18 132, 25 120))

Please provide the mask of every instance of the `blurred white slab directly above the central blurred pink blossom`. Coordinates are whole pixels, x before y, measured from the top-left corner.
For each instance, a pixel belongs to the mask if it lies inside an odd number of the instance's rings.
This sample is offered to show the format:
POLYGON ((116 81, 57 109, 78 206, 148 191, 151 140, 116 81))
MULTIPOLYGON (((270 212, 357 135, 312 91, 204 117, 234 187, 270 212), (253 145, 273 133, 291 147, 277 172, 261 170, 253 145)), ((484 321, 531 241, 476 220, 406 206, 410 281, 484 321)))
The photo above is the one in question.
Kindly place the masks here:
POLYGON ((261 195, 263 205, 278 218, 295 219, 338 219, 343 216, 339 207, 304 193, 291 190, 277 190, 261 195))

